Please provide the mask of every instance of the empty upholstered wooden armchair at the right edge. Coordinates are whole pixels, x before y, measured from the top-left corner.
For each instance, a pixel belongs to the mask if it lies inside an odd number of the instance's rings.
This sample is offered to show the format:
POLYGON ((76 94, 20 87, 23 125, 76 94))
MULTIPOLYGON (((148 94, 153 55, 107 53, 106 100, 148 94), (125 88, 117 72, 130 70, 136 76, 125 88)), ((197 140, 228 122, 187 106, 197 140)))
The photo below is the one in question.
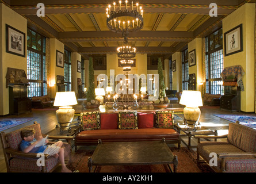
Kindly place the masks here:
POLYGON ((197 161, 201 162, 200 156, 208 164, 211 162, 212 169, 216 172, 256 172, 256 130, 240 125, 239 122, 230 123, 228 135, 223 136, 194 136, 198 139, 197 161), (201 138, 224 139, 227 141, 201 142, 201 138), (217 156, 214 165, 213 156, 217 156))

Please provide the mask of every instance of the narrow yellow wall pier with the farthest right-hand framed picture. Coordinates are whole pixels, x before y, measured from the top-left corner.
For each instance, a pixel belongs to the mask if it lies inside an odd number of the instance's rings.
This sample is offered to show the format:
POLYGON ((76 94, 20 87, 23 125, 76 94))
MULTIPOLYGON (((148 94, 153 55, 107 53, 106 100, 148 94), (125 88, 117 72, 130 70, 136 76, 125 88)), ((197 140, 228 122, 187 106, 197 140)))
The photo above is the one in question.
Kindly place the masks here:
POLYGON ((172 55, 172 62, 176 60, 176 71, 173 71, 173 90, 181 91, 182 90, 182 62, 181 62, 181 52, 175 52, 172 55))

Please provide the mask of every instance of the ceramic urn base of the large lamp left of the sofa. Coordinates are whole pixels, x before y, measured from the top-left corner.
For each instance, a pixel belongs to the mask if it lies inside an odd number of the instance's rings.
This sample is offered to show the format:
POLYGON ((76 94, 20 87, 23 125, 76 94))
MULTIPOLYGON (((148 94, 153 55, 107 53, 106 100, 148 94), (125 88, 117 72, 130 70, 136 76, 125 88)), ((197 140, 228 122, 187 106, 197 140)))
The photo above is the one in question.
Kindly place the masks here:
POLYGON ((59 107, 56 110, 56 117, 60 124, 60 134, 63 133, 64 129, 68 129, 68 132, 71 132, 70 124, 74 118, 75 109, 72 109, 71 106, 59 107))

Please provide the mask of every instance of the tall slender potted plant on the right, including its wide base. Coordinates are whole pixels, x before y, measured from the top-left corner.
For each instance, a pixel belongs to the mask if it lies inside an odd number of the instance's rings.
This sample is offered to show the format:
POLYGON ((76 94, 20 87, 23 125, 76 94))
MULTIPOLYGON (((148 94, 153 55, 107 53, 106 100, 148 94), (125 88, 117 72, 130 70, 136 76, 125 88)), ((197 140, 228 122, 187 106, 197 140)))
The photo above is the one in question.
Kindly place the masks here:
POLYGON ((155 108, 167 108, 170 103, 170 99, 165 95, 165 82, 163 80, 163 66, 161 58, 158 58, 158 75, 159 75, 159 97, 154 101, 153 106, 155 108))

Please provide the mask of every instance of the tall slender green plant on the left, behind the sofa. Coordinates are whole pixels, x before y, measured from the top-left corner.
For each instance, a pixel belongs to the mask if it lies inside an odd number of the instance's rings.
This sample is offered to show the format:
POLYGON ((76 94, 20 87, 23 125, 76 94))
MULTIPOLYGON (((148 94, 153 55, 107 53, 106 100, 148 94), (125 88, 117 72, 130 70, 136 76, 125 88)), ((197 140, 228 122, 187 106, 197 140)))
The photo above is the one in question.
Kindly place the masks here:
POLYGON ((94 70, 93 70, 93 60, 89 59, 89 87, 87 91, 87 101, 95 99, 95 87, 94 87, 94 70))

